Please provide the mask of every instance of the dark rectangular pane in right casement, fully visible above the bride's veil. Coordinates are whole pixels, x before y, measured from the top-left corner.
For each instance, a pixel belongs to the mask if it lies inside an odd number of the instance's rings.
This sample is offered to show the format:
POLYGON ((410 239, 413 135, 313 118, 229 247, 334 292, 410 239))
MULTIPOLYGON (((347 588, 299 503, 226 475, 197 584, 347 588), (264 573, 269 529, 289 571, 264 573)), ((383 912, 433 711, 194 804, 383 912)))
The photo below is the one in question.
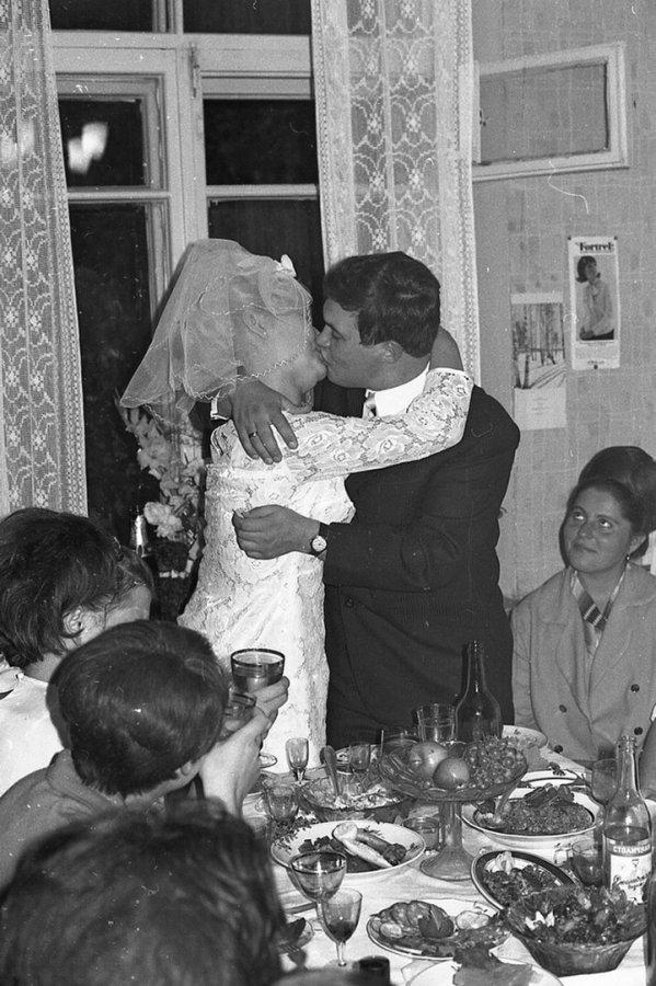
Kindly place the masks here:
POLYGON ((310 100, 205 100, 208 185, 317 184, 310 100))

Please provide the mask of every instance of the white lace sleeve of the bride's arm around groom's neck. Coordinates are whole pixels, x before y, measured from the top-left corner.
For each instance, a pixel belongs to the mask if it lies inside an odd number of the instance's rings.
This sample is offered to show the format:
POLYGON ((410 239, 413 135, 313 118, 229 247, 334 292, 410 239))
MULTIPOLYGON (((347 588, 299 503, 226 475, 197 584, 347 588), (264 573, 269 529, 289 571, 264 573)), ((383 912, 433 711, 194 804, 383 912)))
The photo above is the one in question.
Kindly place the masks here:
POLYGON ((424 391, 399 417, 337 417, 312 412, 294 419, 298 449, 285 456, 296 477, 326 479, 424 459, 462 438, 473 380, 434 369, 424 391))

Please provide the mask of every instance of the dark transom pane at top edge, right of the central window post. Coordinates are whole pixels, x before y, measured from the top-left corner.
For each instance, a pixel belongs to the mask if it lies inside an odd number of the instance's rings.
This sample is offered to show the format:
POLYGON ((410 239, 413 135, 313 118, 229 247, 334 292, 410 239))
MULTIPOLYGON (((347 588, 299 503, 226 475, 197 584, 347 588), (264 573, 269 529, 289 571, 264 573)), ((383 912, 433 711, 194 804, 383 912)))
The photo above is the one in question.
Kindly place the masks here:
POLYGON ((310 34, 310 0, 183 0, 184 30, 216 34, 310 34))

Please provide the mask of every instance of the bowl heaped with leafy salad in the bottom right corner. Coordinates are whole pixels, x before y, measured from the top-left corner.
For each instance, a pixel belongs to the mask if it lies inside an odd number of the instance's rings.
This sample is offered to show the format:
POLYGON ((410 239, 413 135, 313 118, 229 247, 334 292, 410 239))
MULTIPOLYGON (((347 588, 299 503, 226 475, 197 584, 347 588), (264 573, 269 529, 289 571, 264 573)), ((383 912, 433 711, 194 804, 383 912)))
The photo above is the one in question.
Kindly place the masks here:
POLYGON ((529 894, 504 916, 533 959, 556 976, 617 968, 646 928, 644 905, 623 891, 574 884, 529 894))

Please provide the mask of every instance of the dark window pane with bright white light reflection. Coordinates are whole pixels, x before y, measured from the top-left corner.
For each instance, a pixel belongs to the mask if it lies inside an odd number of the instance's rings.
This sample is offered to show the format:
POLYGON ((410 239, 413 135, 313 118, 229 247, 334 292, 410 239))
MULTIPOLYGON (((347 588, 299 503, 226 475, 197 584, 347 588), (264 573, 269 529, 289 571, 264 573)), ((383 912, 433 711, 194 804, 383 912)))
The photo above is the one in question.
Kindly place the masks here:
POLYGON ((66 180, 81 185, 145 185, 142 101, 59 99, 66 180))

